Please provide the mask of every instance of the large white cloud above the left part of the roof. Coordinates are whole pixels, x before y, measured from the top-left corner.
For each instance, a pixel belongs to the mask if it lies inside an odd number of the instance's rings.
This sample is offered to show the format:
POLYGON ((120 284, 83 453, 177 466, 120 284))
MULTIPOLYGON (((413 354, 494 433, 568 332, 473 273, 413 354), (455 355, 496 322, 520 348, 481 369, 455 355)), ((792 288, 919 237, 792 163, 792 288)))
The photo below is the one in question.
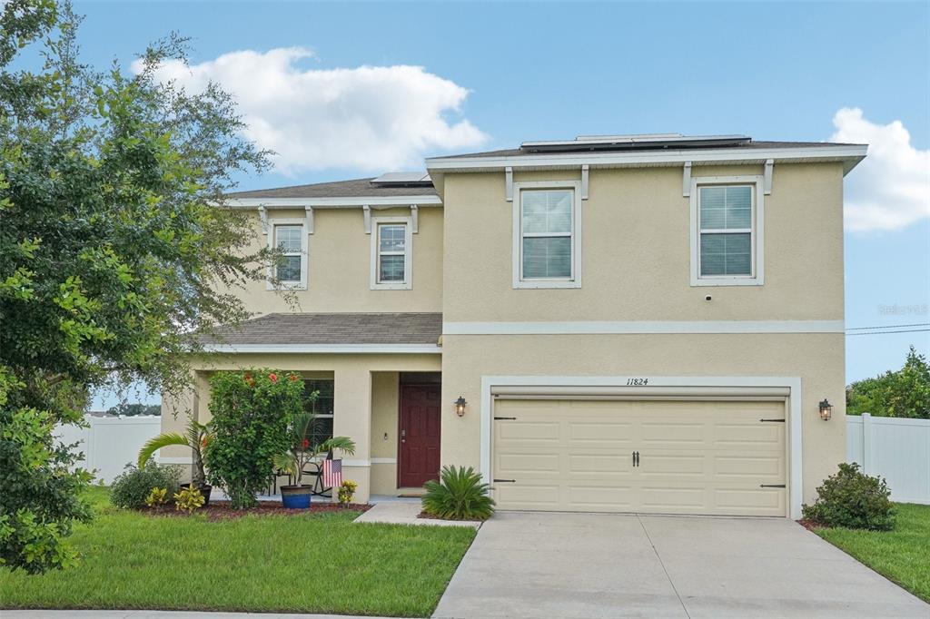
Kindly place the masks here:
POLYGON ((275 151, 275 169, 289 176, 421 168, 426 151, 472 148, 487 138, 461 117, 469 91, 422 67, 298 66, 312 57, 303 47, 235 51, 190 67, 169 61, 156 77, 192 91, 214 81, 233 94, 246 137, 275 151))

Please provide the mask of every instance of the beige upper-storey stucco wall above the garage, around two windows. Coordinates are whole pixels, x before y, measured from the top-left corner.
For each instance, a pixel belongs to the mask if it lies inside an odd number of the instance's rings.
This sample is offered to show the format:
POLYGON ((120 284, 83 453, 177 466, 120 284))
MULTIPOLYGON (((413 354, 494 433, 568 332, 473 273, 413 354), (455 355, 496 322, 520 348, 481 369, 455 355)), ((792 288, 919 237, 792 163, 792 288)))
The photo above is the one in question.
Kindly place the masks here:
MULTIPOLYGON (((762 173, 761 165, 695 166, 692 176, 762 173)), ((513 174, 514 182, 578 178, 578 170, 513 174)), ((764 196, 763 286, 690 285, 681 167, 592 169, 589 185, 581 201, 581 287, 514 290, 503 173, 446 175, 444 320, 843 318, 842 164, 775 165, 764 196)))

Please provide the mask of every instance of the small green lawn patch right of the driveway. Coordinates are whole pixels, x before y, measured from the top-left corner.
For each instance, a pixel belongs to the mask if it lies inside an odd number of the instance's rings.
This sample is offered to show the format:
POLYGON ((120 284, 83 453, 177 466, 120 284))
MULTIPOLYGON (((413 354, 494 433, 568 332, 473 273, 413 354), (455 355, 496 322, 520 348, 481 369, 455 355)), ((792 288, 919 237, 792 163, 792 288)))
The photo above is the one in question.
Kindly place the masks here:
POLYGON ((817 534, 930 602, 930 506, 898 503, 894 531, 820 529, 817 534))

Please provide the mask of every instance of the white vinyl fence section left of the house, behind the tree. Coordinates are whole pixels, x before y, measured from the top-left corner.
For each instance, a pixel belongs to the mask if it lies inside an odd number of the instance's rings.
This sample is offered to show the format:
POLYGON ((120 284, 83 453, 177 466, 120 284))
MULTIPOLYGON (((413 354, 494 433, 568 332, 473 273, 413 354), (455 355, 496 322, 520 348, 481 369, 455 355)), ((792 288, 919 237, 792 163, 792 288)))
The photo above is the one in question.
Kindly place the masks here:
POLYGON ((157 436, 162 429, 162 418, 156 416, 95 417, 85 415, 89 428, 60 426, 55 435, 66 444, 79 443, 77 450, 84 454, 80 468, 93 471, 96 479, 110 483, 123 472, 127 463, 136 462, 145 441, 157 436))

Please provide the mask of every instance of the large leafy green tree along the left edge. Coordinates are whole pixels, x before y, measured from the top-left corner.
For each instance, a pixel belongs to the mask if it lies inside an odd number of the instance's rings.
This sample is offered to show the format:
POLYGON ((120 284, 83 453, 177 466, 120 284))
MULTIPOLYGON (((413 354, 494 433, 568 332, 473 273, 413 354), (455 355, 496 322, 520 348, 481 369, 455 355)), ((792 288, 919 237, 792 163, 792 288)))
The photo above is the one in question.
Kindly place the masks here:
POLYGON ((231 291, 269 257, 250 253, 251 224, 223 194, 267 157, 219 87, 154 78, 184 59, 178 37, 136 72, 96 72, 68 4, 2 11, 0 562, 38 573, 74 560, 64 538, 89 518, 89 475, 70 472, 52 428, 113 381, 182 389, 189 334, 246 316, 231 291))

